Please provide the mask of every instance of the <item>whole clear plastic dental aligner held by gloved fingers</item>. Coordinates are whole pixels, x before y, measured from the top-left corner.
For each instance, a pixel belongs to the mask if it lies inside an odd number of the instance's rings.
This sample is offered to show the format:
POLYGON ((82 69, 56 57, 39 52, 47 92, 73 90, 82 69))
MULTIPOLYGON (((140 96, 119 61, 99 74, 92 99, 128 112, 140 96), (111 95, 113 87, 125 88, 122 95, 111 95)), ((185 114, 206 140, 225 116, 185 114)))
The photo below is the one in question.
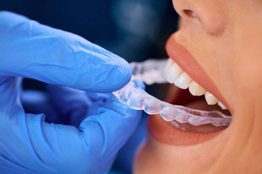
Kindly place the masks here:
MULTIPOLYGON (((166 61, 166 59, 149 59, 141 63, 132 62, 130 63, 134 74, 132 78, 139 79, 146 84, 166 83, 163 76, 166 61)), ((150 115, 160 114, 166 121, 176 120, 179 123, 189 123, 194 126, 202 124, 227 126, 232 120, 231 116, 224 115, 219 111, 201 111, 163 102, 137 88, 132 80, 122 89, 113 92, 113 94, 120 102, 129 107, 144 110, 150 115)))

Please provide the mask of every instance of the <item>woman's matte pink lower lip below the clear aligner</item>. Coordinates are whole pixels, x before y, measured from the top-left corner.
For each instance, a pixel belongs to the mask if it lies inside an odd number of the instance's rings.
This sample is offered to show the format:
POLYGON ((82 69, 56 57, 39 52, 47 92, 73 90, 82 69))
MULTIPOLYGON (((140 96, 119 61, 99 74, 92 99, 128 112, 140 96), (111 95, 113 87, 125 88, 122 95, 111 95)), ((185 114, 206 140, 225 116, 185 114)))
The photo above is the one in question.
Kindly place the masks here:
POLYGON ((159 114, 151 115, 148 120, 148 132, 157 141, 174 146, 192 146, 211 140, 224 130, 211 133, 183 131, 170 122, 165 121, 159 114))

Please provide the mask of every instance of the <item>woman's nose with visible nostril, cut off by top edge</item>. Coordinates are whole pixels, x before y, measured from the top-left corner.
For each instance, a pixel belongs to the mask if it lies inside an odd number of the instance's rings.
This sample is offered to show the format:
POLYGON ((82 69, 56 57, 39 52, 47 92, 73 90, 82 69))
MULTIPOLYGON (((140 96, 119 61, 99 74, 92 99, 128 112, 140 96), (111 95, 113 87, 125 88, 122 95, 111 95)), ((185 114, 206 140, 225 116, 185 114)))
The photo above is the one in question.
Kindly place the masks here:
POLYGON ((201 27, 210 35, 220 35, 226 29, 226 1, 173 0, 174 8, 188 25, 201 27))

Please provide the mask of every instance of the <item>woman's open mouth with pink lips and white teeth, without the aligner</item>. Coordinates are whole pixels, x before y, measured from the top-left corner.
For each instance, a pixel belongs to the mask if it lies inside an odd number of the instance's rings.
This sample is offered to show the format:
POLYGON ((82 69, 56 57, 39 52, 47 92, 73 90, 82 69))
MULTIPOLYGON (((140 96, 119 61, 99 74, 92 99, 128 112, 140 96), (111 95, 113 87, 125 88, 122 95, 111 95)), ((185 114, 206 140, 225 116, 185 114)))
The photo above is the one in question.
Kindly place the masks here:
MULTIPOLYGON (((165 77, 169 83, 174 84, 166 102, 231 115, 227 110, 231 110, 231 107, 219 89, 187 49, 176 42, 174 35, 168 39, 166 50, 171 58, 166 65, 165 77)), ((175 120, 167 122, 161 120, 160 115, 151 116, 148 127, 150 135, 155 139, 179 146, 210 140, 227 128, 212 124, 193 126, 175 120)))

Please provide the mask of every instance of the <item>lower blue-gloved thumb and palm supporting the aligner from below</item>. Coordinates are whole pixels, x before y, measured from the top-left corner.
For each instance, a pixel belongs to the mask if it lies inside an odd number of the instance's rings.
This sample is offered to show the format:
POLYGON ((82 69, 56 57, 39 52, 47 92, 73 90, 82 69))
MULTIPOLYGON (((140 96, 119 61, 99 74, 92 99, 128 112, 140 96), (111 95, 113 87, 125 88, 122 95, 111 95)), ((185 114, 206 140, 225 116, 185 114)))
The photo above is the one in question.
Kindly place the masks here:
POLYGON ((141 111, 112 96, 79 129, 46 123, 43 114, 4 119, 0 168, 22 173, 106 173, 140 117, 141 111))

